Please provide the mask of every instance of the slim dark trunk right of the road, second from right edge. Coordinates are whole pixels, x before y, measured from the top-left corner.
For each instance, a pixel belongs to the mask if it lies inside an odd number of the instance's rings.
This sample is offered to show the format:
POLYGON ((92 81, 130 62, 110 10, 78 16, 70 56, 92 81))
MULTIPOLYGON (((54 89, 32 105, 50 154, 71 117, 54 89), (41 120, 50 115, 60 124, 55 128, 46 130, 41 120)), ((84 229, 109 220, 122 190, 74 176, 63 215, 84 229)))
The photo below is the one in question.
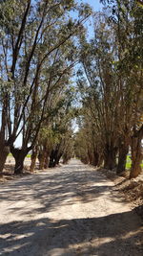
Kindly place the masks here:
POLYGON ((120 175, 126 171, 126 159, 129 151, 129 145, 124 141, 119 145, 119 155, 116 174, 120 175))

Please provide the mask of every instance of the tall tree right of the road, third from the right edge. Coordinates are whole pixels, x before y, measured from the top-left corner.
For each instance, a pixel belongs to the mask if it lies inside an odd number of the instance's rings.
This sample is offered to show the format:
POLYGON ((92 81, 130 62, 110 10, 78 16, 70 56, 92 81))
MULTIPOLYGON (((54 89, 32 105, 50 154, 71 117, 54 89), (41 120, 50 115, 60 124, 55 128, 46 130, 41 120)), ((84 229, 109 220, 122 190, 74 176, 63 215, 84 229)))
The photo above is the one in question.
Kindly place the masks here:
MULTIPOLYGON (((97 136, 104 153, 105 168, 116 165, 117 134, 116 110, 117 92, 116 75, 112 62, 114 60, 114 36, 109 29, 107 17, 103 13, 96 18, 95 35, 91 43, 83 43, 81 62, 86 77, 86 91, 90 115, 96 126, 97 136)), ((78 83, 85 83, 79 80, 78 83)), ((95 136, 94 136, 95 137, 95 136)), ((95 148, 95 146, 94 146, 95 148)))

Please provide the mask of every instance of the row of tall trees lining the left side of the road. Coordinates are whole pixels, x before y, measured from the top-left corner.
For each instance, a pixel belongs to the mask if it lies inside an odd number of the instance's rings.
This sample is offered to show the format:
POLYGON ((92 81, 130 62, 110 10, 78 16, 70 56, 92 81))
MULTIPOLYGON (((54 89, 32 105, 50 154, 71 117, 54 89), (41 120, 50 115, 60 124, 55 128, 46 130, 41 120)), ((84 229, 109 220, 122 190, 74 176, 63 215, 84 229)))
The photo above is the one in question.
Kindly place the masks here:
POLYGON ((9 152, 15 174, 29 151, 31 170, 37 153, 42 168, 70 157, 72 69, 90 14, 74 0, 0 1, 0 172, 9 152))

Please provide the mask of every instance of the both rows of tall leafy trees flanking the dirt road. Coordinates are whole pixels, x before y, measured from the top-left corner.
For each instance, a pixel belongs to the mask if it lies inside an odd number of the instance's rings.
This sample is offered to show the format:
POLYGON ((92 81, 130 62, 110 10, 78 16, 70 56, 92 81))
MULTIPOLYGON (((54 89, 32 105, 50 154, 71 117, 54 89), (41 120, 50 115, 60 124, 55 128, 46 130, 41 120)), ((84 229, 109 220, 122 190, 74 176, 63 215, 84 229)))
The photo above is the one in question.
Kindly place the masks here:
POLYGON ((36 157, 44 169, 75 153, 121 174, 131 149, 131 177, 140 174, 143 6, 100 2, 104 9, 95 13, 75 0, 0 2, 0 172, 11 152, 20 174, 31 151, 31 172, 36 157))

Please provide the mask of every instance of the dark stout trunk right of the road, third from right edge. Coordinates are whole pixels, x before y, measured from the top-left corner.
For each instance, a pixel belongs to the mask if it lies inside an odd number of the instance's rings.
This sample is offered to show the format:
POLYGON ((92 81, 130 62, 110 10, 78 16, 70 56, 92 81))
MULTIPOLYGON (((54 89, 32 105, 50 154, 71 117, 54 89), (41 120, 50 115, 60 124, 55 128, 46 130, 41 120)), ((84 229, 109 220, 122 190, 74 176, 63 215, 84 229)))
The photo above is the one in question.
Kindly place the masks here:
POLYGON ((104 168, 112 170, 116 167, 116 148, 106 147, 104 153, 104 168))

